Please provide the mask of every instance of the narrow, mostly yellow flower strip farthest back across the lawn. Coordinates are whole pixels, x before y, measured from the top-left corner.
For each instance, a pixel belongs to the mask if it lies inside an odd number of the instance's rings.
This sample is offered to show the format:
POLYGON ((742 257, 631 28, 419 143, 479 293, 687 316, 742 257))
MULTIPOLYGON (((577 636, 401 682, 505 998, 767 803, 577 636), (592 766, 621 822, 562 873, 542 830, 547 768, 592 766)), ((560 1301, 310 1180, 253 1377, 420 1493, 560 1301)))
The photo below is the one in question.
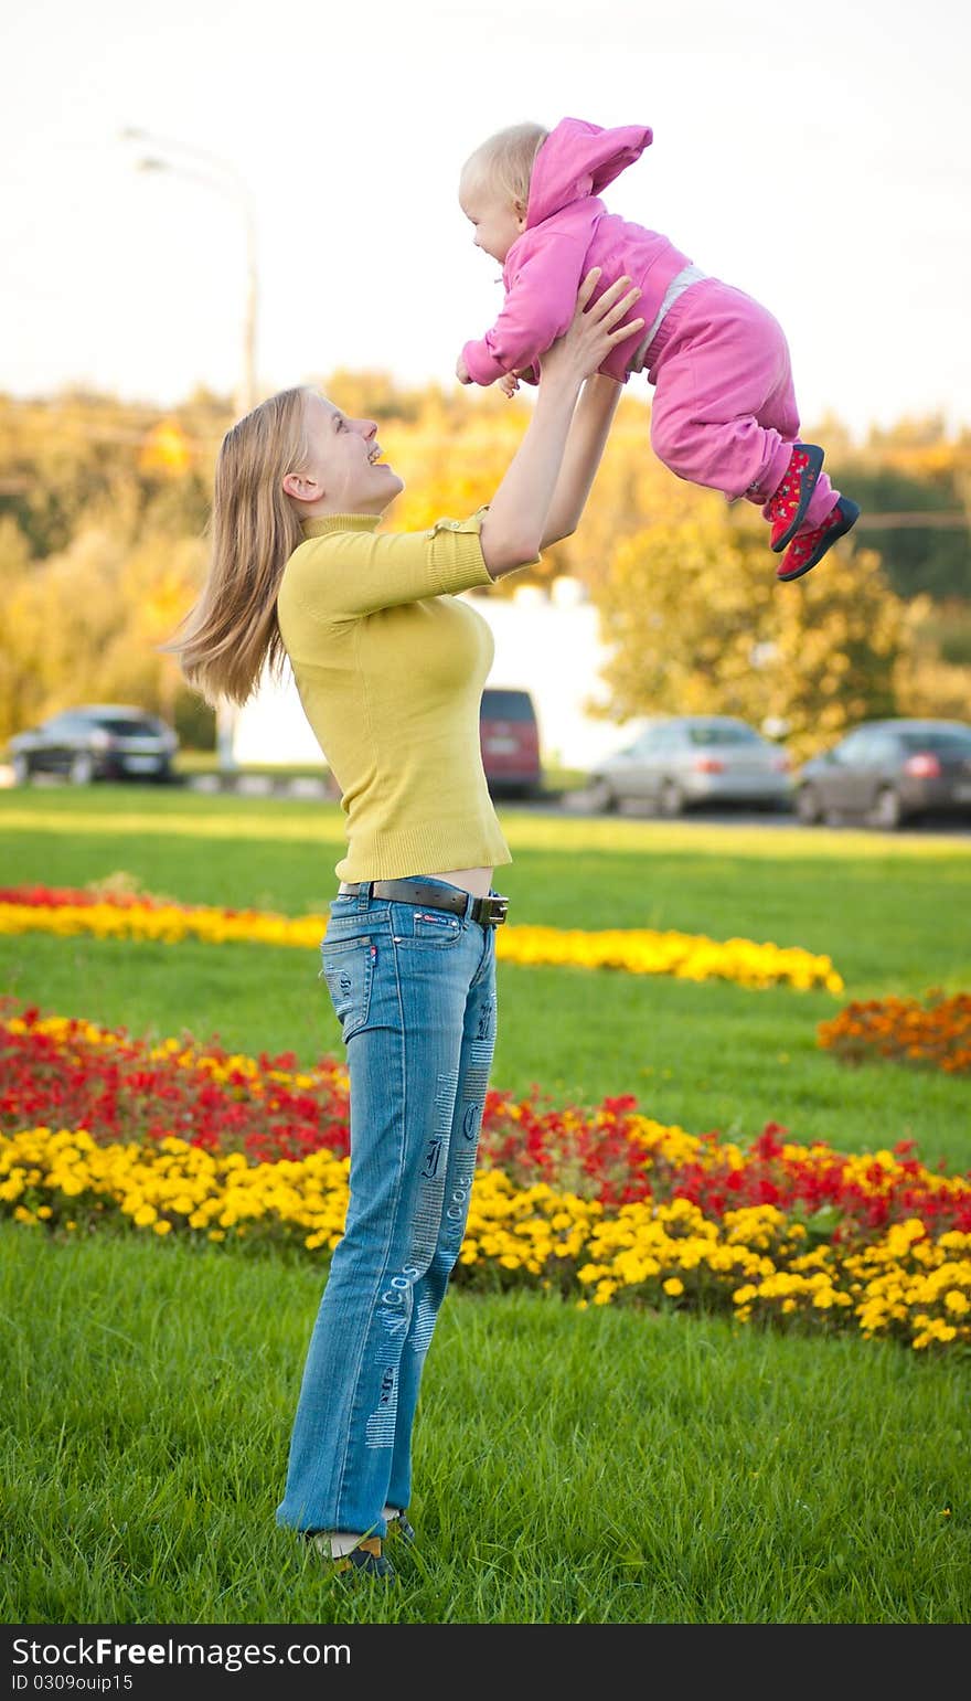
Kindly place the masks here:
MULTIPOLYGON (((0 890, 0 932, 94 934, 100 939, 155 939, 165 944, 192 937, 209 944, 248 941, 316 949, 327 932, 327 917, 184 905, 117 890, 111 883, 92 890, 9 886, 0 890)), ((497 956, 507 963, 616 968, 629 975, 673 975, 696 981, 730 980, 750 988, 843 990, 832 959, 801 946, 757 944, 752 939, 716 941, 704 934, 646 927, 583 932, 505 924, 497 932, 497 956)))

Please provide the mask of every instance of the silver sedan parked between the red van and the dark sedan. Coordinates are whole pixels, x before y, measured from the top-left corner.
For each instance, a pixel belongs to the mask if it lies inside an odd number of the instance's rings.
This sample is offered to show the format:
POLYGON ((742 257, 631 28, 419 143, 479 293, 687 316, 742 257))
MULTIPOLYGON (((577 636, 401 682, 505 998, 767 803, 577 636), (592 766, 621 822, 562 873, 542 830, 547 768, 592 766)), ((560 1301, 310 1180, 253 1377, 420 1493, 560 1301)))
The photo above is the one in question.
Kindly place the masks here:
POLYGON ((648 721, 634 740, 590 772, 600 810, 650 803, 680 815, 694 803, 781 808, 791 799, 789 757, 733 714, 673 714, 648 721))

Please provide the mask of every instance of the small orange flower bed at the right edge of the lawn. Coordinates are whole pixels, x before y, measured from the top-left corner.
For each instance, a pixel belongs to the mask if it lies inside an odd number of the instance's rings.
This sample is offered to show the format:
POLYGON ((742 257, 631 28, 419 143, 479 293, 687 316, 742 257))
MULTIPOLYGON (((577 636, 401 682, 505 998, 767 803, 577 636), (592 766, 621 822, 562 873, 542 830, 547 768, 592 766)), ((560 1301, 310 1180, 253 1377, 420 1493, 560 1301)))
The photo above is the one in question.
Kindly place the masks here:
POLYGON ((945 1075, 971 1073, 971 993, 928 993, 918 998, 869 998, 849 1004, 818 1039, 843 1063, 891 1058, 945 1075))

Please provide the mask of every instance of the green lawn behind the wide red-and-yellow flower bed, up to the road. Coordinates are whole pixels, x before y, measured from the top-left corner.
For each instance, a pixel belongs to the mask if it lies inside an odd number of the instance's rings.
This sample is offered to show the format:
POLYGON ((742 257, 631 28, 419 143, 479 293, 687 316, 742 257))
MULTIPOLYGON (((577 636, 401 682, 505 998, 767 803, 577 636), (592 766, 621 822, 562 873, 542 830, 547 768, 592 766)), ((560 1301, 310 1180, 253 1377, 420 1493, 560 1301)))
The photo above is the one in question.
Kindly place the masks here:
MULTIPOLYGON (((512 919, 563 927, 672 927, 826 953, 843 997, 726 981, 500 964, 493 1084, 558 1104, 629 1092, 694 1133, 757 1133, 879 1150, 917 1140, 927 1162, 971 1165, 968 1084, 883 1065, 838 1067, 816 1027, 850 997, 971 987, 971 852, 961 840, 881 839, 503 810, 515 861, 497 885, 512 919)), ((323 912, 335 888, 333 805, 97 788, 0 794, 7 883, 71 885, 128 871, 185 902, 323 912)), ((65 1014, 133 1033, 184 1027, 243 1051, 338 1051, 315 953, 262 946, 124 946, 0 939, 2 983, 65 1014)))

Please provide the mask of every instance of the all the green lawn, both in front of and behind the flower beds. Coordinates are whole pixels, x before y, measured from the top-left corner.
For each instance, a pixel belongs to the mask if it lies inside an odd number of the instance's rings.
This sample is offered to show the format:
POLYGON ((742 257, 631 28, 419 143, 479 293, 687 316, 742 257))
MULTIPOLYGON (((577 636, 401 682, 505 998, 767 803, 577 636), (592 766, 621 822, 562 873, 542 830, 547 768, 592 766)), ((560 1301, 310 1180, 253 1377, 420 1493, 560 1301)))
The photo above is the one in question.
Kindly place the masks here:
MULTIPOLYGON (((850 997, 971 985, 971 854, 932 835, 500 808, 517 922, 830 953, 842 998, 500 966, 493 1084, 633 1092, 662 1121, 971 1167, 968 1082, 840 1068, 850 997)), ((0 794, 0 883, 126 871, 197 903, 323 910, 330 805, 0 794)), ((0 987, 136 1034, 338 1051, 315 953, 0 937, 0 987)), ((0 1228, 0 1602, 14 1623, 964 1623, 968 1361, 721 1320, 452 1293, 417 1429, 422 1543, 350 1599, 274 1526, 321 1269, 0 1228)))

